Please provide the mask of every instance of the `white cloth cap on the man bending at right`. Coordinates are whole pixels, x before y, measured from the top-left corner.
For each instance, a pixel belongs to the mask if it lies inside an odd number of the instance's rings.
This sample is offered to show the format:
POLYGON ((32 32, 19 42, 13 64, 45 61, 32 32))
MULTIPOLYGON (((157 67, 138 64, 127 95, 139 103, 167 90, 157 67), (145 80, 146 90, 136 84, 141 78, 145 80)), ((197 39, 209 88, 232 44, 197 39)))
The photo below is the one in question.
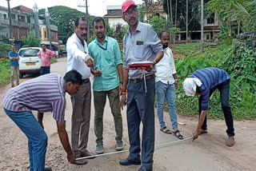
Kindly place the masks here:
POLYGON ((197 92, 197 85, 201 86, 202 82, 198 78, 186 78, 182 85, 187 96, 194 96, 197 92))

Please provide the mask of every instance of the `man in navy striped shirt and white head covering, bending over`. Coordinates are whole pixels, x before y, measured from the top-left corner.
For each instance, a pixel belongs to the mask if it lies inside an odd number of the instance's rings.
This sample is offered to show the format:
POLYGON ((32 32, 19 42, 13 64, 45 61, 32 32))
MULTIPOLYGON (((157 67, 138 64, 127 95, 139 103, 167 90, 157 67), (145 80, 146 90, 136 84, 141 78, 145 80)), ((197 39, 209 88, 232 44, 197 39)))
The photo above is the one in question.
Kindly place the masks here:
POLYGON ((234 145, 234 121, 230 109, 230 75, 225 70, 210 67, 196 70, 182 83, 187 96, 200 95, 198 127, 193 133, 193 140, 202 133, 207 133, 206 112, 210 95, 215 89, 220 92, 222 110, 226 121, 227 146, 234 145))

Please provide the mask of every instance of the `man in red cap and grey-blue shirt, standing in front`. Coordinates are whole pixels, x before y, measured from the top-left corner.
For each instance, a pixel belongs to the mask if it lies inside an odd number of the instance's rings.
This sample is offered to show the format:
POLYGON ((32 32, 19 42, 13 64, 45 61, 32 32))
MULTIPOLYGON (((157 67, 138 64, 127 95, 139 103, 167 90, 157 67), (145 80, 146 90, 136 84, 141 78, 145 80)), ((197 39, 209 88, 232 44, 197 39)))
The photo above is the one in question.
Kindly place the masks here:
MULTIPOLYGON (((129 25, 129 30, 123 39, 124 68, 132 62, 158 63, 163 57, 162 43, 152 26, 138 22, 137 6, 133 1, 127 0, 122 4, 122 18, 129 25)), ((130 154, 119 163, 120 165, 141 165, 142 160, 142 167, 139 171, 153 169, 155 75, 152 68, 153 65, 145 67, 143 71, 123 70, 121 102, 122 106, 127 103, 130 154), (127 101, 126 89, 128 91, 127 101), (143 125, 142 150, 139 136, 141 122, 143 125)))

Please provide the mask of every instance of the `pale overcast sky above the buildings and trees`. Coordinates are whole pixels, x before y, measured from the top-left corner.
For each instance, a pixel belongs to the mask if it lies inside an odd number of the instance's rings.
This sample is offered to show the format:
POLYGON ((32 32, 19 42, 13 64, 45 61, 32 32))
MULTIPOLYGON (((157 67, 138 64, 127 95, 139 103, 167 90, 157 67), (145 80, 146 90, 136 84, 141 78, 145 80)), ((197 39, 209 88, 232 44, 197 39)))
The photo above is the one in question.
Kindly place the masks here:
MULTIPOLYGON (((106 6, 121 6, 122 2, 125 2, 125 0, 87 0, 88 11, 91 15, 102 17, 106 14, 106 6)), ((134 2, 141 4, 142 0, 134 0, 134 2)), ((34 3, 37 3, 38 9, 51 6, 68 6, 86 12, 85 7, 78 7, 78 5, 85 5, 86 0, 10 0, 10 7, 22 5, 33 9, 34 3)), ((7 1, 0 0, 0 6, 7 7, 7 1)))

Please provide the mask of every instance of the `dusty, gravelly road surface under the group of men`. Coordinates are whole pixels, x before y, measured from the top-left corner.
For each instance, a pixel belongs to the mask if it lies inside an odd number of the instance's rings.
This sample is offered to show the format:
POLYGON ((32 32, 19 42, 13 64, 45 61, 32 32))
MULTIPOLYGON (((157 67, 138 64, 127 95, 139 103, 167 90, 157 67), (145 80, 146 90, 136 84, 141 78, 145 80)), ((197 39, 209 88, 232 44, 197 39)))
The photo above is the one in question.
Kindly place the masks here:
MULTIPOLYGON (((51 66, 52 73, 59 73, 62 76, 66 73, 66 58, 58 59, 57 63, 51 66)), ((30 79, 30 76, 22 78, 21 82, 30 79)), ((92 77, 91 77, 92 80, 92 77)), ((0 88, 0 95, 10 85, 0 88)), ((218 106, 219 107, 219 106, 218 106)), ((90 137, 88 149, 95 151, 94 135, 94 103, 91 106, 90 137)), ((66 129, 70 137, 71 118, 70 96, 66 93, 66 129)), ((36 112, 34 112, 36 113, 36 112)), ((220 113, 221 114, 221 113, 220 113)), ((123 117, 123 142, 124 149, 129 149, 129 138, 126 124, 126 109, 122 110, 123 117)), ((170 128, 170 117, 164 113, 166 125, 170 128)), ((184 137, 191 137, 198 119, 182 117, 178 115, 178 121, 186 125, 178 125, 184 137)), ((227 147, 225 121, 208 121, 208 132, 198 140, 182 141, 172 145, 162 146, 154 152, 154 170, 157 171, 243 171, 256 170, 256 121, 234 121, 235 145, 227 147)), ((45 113, 44 127, 48 135, 48 147, 46 152, 46 165, 53 170, 92 170, 92 171, 118 171, 138 170, 140 165, 121 166, 119 160, 126 158, 128 153, 118 153, 106 157, 96 157, 88 160, 87 165, 71 165, 66 160, 66 153, 58 139, 57 127, 52 113, 45 113)), ((114 118, 110 113, 107 101, 104 112, 103 143, 105 153, 115 151, 114 118)), ((173 135, 162 133, 159 130, 158 118, 155 111, 155 145, 165 142, 177 141, 173 135)), ((6 116, 2 109, 2 98, 0 98, 0 170, 28 170, 29 155, 27 150, 27 139, 24 133, 6 116)))

